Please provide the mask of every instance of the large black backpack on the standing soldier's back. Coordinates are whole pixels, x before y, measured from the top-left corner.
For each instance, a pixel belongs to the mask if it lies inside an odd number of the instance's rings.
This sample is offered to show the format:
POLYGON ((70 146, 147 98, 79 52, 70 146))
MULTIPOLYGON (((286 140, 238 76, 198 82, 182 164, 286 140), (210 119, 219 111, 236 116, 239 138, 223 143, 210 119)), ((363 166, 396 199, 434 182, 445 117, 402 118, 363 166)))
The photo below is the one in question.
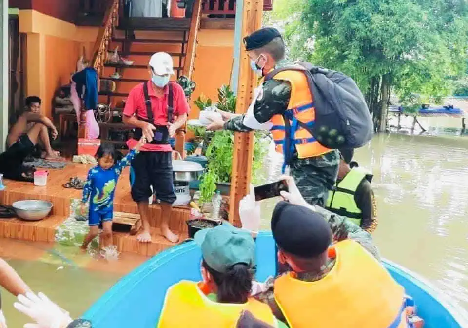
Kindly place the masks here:
POLYGON ((369 108, 357 84, 345 74, 308 62, 281 67, 265 77, 272 79, 282 71, 302 71, 307 76, 315 106, 313 127, 298 121, 323 146, 354 149, 365 145, 373 134, 369 108))

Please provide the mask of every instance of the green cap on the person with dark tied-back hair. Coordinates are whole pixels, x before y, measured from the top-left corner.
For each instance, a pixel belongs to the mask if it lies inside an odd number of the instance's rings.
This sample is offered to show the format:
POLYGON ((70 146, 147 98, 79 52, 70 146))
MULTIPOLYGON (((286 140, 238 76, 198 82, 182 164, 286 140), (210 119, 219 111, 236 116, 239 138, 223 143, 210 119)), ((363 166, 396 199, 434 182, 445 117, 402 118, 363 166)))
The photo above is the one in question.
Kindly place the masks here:
POLYGON ((224 221, 214 228, 195 233, 206 264, 217 272, 226 273, 237 263, 255 266, 255 242, 250 232, 224 221))

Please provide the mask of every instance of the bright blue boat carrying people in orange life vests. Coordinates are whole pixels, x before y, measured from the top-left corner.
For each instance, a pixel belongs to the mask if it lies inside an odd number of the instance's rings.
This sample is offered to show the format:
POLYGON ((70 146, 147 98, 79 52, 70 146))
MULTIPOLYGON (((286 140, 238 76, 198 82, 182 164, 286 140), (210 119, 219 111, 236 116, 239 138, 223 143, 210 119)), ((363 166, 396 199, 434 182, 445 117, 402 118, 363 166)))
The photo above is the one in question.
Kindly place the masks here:
MULTIPOLYGON (((274 241, 270 232, 256 240, 258 281, 275 272, 274 241)), ((149 259, 109 289, 85 314, 96 328, 154 328, 166 290, 181 279, 199 281, 201 251, 188 242, 149 259)), ((425 328, 466 328, 468 314, 409 270, 384 260, 395 280, 406 289, 417 307, 425 328)))

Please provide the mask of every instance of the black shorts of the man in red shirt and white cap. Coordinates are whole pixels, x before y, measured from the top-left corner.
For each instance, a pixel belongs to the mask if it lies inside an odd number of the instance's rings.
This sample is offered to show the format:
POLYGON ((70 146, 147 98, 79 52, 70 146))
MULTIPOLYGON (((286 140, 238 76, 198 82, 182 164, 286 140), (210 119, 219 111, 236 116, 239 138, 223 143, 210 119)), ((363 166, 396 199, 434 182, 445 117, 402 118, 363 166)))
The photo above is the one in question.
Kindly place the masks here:
POLYGON ((161 202, 173 204, 176 201, 172 172, 172 152, 141 151, 132 161, 135 181, 132 185, 134 202, 145 202, 152 195, 161 202))

